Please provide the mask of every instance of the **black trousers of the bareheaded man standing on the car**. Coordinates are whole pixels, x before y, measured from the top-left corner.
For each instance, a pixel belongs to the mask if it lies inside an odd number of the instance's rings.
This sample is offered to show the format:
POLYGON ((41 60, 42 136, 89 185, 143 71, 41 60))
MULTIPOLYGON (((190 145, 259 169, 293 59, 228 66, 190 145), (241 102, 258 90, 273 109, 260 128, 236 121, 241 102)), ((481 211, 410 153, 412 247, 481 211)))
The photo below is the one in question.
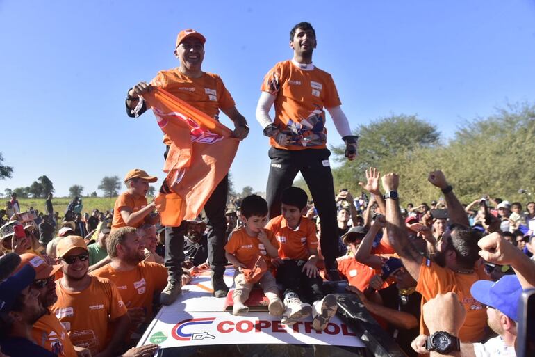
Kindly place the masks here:
POLYGON ((267 200, 270 218, 281 214, 281 193, 292 186, 299 171, 311 191, 318 209, 321 225, 321 248, 327 268, 336 266, 338 235, 336 228, 336 203, 334 202, 333 174, 329 166, 328 149, 282 150, 270 148, 270 176, 267 200))

